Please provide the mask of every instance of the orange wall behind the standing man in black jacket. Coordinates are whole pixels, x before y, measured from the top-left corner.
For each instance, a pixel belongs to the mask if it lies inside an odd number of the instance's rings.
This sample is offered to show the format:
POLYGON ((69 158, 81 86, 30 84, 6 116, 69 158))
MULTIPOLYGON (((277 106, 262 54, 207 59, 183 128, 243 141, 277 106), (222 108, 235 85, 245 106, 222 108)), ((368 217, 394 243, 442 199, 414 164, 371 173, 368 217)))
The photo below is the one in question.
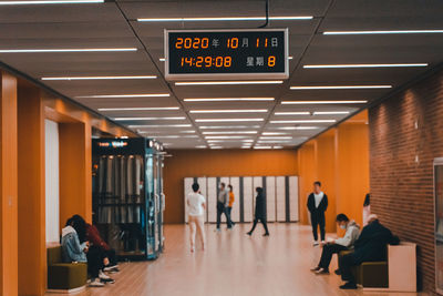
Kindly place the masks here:
POLYGON ((307 195, 318 180, 328 195, 327 232, 338 231, 336 215, 344 213, 362 224, 369 192, 369 125, 363 111, 298 149, 300 222, 309 224, 307 195))

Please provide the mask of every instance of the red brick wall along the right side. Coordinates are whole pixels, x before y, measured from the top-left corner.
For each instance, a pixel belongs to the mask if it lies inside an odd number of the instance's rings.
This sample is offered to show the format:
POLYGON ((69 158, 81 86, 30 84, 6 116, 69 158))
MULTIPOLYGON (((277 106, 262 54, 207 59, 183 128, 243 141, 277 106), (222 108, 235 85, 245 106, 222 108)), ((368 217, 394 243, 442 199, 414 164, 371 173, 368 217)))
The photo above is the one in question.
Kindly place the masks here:
POLYGON ((443 71, 371 108, 369 124, 372 212, 419 245, 419 287, 434 292, 433 159, 443 156, 443 71))

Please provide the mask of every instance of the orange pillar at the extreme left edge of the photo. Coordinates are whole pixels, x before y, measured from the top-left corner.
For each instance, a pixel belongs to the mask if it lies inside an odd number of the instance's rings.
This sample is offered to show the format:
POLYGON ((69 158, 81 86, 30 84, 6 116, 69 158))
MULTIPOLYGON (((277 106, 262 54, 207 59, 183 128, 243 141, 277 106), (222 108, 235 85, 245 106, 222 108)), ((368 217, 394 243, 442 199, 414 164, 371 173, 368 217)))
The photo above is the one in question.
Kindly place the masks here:
POLYGON ((17 79, 0 71, 0 295, 18 294, 17 79))

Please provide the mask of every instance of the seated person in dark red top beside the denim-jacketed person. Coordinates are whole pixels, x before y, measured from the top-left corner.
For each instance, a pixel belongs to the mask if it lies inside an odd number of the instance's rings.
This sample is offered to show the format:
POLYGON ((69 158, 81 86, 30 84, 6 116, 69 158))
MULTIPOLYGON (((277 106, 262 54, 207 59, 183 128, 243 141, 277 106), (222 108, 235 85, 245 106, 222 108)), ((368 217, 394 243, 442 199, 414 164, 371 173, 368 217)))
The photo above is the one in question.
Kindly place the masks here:
POLYGON ((87 261, 90 261, 91 257, 91 259, 94 262, 95 265, 95 261, 96 258, 99 258, 100 262, 99 278, 104 283, 114 284, 115 280, 103 273, 104 267, 110 264, 110 259, 107 258, 105 252, 103 252, 103 249, 99 245, 94 245, 86 239, 86 222, 84 221, 84 218, 80 215, 73 215, 72 227, 74 227, 75 232, 78 233, 79 241, 81 244, 87 242, 89 245, 87 261))

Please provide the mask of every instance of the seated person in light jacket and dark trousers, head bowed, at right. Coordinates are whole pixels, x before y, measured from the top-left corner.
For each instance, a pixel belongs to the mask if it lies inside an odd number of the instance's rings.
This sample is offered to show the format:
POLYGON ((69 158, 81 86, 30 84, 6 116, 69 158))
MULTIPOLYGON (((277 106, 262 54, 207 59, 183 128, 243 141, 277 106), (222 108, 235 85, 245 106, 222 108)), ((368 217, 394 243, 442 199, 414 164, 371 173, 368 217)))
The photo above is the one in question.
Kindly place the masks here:
POLYGON ((317 267, 311 269, 318 275, 329 274, 329 264, 331 263, 332 255, 341 251, 352 249, 353 244, 359 237, 359 225, 354 221, 349 221, 347 215, 338 214, 336 222, 340 228, 346 229, 346 234, 343 237, 331 239, 323 244, 320 262, 317 267))

